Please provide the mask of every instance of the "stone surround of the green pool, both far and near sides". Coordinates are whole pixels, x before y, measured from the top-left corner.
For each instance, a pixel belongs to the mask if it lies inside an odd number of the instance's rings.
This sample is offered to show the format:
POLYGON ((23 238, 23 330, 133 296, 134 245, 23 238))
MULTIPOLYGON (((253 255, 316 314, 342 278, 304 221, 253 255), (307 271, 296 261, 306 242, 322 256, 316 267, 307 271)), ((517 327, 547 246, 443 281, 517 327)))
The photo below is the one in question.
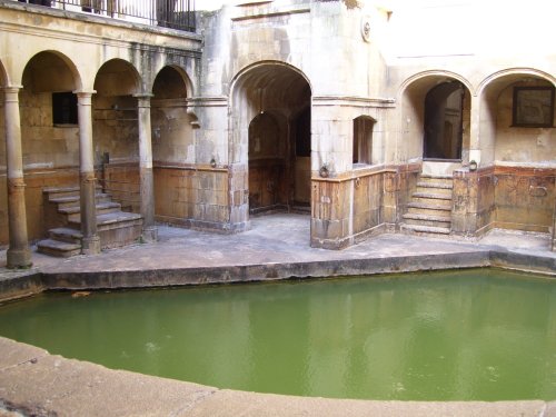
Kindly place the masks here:
MULTIPOLYGON (((556 277, 549 236, 492 230, 478 240, 385 234, 340 251, 309 247, 309 217, 271 215, 218 235, 159 227, 156 244, 59 259, 33 251, 33 268, 6 269, 0 285, 43 275, 48 288, 230 282, 500 266, 556 277), (139 278, 136 278, 139 276, 139 278), (85 278, 83 278, 85 277, 85 278), (99 278, 101 277, 101 278, 99 278)), ((4 288, 4 287, 2 287, 4 288)), ((0 416, 556 416, 556 404, 334 400, 240 393, 52 356, 0 338, 0 416)))

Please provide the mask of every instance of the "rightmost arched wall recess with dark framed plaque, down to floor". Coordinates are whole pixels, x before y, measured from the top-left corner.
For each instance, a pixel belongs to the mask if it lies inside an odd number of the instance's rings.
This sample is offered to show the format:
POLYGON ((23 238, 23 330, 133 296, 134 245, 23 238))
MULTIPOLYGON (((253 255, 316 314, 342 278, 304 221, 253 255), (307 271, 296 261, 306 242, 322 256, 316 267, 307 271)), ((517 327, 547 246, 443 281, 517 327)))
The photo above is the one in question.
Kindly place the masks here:
POLYGON ((497 227, 540 232, 554 227, 555 88, 554 76, 513 68, 493 75, 479 90, 478 162, 488 169, 480 183, 493 189, 489 221, 497 227))

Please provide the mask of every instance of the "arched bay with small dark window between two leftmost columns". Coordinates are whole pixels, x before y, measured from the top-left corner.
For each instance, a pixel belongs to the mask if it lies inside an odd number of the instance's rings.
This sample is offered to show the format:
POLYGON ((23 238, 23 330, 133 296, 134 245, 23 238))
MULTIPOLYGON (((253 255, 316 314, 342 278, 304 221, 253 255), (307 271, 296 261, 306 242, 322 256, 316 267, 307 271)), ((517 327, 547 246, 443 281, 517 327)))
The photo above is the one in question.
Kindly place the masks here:
POLYGON ((78 98, 75 64, 57 51, 33 56, 23 69, 19 92, 21 146, 29 239, 54 226, 42 191, 79 185, 78 98))

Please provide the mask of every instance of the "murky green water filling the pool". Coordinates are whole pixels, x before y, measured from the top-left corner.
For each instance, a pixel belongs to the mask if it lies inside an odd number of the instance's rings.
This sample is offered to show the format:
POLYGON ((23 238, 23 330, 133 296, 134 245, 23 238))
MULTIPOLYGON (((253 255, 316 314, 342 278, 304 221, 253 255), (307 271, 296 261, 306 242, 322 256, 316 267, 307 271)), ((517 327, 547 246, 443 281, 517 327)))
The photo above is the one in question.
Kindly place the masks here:
POLYGON ((500 270, 47 294, 2 306, 0 335, 220 388, 556 399, 556 281, 500 270))

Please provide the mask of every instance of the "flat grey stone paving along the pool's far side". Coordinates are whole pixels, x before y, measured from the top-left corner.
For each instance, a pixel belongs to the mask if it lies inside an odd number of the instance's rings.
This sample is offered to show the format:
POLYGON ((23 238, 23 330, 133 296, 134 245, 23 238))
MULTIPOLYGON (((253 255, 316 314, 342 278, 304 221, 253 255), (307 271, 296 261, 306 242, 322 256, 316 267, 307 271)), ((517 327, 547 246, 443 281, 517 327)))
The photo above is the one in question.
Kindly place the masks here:
MULTIPOLYGON (((159 241, 106 250, 98 256, 52 258, 33 251, 33 269, 41 272, 98 272, 116 270, 182 269, 379 259, 399 256, 465 254, 477 250, 506 250, 556 260, 546 234, 495 229, 479 240, 434 239, 397 234, 370 238, 344 250, 309 246, 309 217, 280 214, 251 219, 251 229, 238 235, 219 235, 159 226, 159 241)), ((0 276, 26 274, 6 268, 6 251, 0 251, 0 276)))

